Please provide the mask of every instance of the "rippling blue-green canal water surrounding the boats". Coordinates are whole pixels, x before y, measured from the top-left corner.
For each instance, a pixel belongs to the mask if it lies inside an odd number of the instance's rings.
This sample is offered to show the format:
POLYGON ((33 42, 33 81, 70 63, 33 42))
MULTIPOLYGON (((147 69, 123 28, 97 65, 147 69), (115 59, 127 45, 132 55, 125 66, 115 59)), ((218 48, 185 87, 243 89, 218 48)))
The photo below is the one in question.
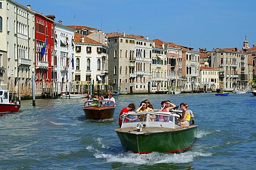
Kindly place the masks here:
MULTIPOLYGON (((85 99, 22 100, 0 116, 0 169, 254 169, 256 97, 233 94, 119 95, 114 120, 85 120, 85 99), (197 139, 180 154, 124 152, 114 129, 123 107, 149 99, 188 103, 197 139)), ((147 143, 145 143, 147 145, 147 143)))

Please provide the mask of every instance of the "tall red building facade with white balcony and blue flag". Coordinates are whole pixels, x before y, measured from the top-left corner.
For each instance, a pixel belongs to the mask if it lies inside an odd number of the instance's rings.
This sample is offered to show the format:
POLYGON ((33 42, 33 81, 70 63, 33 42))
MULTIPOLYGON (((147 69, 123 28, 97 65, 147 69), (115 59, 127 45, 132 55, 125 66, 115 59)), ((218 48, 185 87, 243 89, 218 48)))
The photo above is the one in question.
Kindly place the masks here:
POLYGON ((35 14, 35 86, 51 87, 54 61, 54 15, 35 14))

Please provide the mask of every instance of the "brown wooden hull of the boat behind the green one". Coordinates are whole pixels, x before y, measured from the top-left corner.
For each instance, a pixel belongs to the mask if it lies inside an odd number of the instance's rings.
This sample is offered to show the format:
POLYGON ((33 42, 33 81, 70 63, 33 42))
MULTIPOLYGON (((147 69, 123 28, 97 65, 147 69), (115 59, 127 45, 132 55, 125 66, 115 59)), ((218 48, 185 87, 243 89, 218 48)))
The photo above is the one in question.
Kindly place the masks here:
POLYGON ((83 107, 86 119, 101 120, 114 117, 115 106, 87 106, 83 107))

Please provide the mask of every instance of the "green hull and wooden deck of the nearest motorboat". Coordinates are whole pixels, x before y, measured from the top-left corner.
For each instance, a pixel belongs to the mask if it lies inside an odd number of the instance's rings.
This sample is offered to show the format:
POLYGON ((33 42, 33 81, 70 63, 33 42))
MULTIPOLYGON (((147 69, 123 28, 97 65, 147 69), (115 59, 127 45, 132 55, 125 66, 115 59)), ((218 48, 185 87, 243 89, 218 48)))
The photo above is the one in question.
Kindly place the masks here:
POLYGON ((137 132, 134 127, 115 129, 125 151, 132 150, 139 154, 158 152, 180 152, 189 149, 196 139, 197 126, 189 128, 147 127, 137 132))

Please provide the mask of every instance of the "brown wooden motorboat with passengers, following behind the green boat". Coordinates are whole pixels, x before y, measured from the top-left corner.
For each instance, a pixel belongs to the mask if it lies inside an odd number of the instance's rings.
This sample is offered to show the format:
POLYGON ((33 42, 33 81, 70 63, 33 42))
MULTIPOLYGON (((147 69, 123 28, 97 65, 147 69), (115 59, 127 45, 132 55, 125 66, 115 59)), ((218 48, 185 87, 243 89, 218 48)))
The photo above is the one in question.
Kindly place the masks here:
POLYGON ((85 118, 93 120, 113 118, 115 109, 113 100, 87 100, 83 107, 85 118))

